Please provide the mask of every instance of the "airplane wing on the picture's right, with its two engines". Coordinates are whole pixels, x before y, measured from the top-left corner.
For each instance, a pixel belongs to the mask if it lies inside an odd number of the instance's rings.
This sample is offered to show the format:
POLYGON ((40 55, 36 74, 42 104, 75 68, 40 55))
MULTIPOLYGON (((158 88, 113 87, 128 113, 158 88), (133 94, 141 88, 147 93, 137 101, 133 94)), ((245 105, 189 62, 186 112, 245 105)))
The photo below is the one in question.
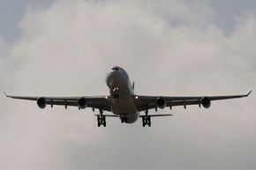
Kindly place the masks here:
POLYGON ((187 105, 201 105, 203 107, 210 107, 212 100, 230 100, 236 98, 243 98, 250 95, 252 91, 244 95, 229 95, 229 96, 134 96, 135 105, 138 111, 146 111, 148 109, 158 107, 172 107, 183 106, 186 108, 187 105))

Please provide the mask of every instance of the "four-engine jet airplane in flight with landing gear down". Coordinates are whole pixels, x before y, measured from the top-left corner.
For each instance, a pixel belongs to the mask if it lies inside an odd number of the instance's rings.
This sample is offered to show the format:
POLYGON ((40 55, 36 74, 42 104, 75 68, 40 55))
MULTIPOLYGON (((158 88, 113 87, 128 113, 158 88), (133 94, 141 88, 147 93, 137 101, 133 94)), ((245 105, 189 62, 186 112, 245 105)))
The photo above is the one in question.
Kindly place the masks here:
POLYGON ((113 67, 106 77, 106 84, 109 87, 109 95, 103 96, 76 96, 76 97, 36 97, 36 96, 12 96, 4 92, 6 97, 18 100, 35 100, 38 107, 45 108, 47 105, 67 107, 78 107, 85 109, 91 107, 99 109, 97 116, 98 127, 106 127, 106 117, 118 117, 122 123, 133 123, 139 118, 142 119, 142 126, 151 127, 151 118, 170 116, 170 115, 148 115, 149 109, 165 108, 187 105, 199 105, 205 108, 211 106, 213 100, 229 100, 234 98, 243 98, 250 95, 250 92, 244 95, 228 96, 143 96, 134 93, 134 82, 131 83, 127 72, 118 66, 113 67), (113 115, 105 115, 104 111, 112 112, 113 115), (140 112, 145 112, 140 114, 140 112))

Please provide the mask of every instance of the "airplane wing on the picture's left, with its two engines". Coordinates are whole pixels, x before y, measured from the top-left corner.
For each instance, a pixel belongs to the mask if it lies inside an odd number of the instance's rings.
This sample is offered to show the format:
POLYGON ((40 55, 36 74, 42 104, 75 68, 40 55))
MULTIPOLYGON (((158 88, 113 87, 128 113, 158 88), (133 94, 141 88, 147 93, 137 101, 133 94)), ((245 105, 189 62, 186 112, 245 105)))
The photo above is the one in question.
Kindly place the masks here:
POLYGON ((12 96, 4 92, 6 97, 18 100, 35 100, 41 108, 50 105, 61 105, 67 107, 86 108, 92 107, 102 109, 102 111, 111 111, 109 96, 77 96, 77 97, 39 97, 39 96, 12 96))

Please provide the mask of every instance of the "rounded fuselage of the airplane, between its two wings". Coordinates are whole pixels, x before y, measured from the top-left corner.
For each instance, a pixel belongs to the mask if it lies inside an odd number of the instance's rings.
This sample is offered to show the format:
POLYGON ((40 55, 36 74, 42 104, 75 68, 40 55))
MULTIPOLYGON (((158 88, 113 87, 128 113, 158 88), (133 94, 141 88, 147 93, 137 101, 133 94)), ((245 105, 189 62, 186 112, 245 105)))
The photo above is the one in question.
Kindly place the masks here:
POLYGON ((136 122, 139 112, 134 104, 134 91, 128 74, 122 68, 113 68, 107 75, 106 83, 110 91, 110 107, 113 114, 126 122, 136 122))

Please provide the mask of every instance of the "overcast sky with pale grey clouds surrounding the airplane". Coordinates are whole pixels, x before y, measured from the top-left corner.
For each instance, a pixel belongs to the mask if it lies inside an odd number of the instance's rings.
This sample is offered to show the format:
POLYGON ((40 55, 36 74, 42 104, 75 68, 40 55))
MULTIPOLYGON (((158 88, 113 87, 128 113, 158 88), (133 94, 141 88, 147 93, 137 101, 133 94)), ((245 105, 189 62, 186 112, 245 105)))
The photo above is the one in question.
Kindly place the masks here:
MULTIPOLYGON (((144 95, 256 87, 256 1, 0 1, 0 91, 108 94, 124 67, 144 95)), ((0 168, 256 168, 255 97, 165 108, 151 128, 0 96, 0 168)), ((154 110, 150 111, 153 114, 154 110)))

